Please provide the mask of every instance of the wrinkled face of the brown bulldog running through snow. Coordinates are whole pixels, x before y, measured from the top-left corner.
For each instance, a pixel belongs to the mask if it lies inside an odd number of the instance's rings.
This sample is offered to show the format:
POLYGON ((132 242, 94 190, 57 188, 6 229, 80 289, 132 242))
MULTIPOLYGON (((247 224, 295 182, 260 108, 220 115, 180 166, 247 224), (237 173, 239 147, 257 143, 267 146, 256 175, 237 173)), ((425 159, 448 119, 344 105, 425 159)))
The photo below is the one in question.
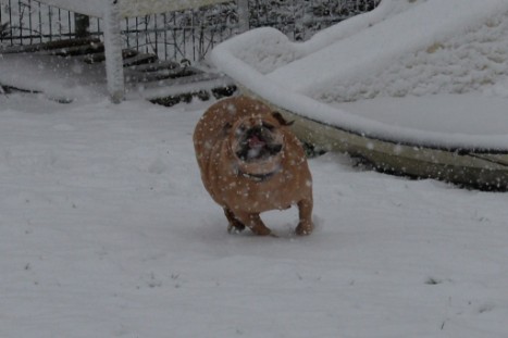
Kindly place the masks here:
POLYGON ((283 135, 276 121, 248 117, 234 126, 233 150, 244 162, 262 162, 277 155, 283 147, 283 135))

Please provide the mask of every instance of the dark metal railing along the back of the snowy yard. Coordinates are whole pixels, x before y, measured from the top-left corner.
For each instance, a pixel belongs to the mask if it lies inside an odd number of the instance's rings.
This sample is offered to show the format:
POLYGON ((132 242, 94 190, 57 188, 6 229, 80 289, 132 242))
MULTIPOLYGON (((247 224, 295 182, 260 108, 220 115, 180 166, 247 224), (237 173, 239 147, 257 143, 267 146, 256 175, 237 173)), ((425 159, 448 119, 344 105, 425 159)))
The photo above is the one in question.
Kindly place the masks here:
MULTIPOLYGON (((271 26, 293 40, 374 9, 381 0, 249 0, 249 27, 271 26)), ((36 0, 0 2, 0 48, 70 39, 79 32, 80 15, 36 0)), ((87 34, 100 36, 102 22, 86 20, 87 34)), ((218 43, 238 34, 237 3, 162 13, 122 22, 126 48, 163 60, 198 62, 218 43)), ((79 34, 79 33, 78 33, 79 34)), ((83 34, 83 32, 82 32, 83 34)))

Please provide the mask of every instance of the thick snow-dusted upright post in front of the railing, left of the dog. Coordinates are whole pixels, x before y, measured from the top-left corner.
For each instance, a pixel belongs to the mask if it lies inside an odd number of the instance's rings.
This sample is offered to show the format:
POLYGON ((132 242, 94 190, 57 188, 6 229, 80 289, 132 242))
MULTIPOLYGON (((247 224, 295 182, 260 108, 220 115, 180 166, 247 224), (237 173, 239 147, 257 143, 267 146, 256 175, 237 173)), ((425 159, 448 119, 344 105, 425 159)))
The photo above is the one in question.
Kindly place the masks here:
POLYGON ((120 103, 125 96, 125 83, 122 59, 122 36, 120 30, 121 0, 107 0, 104 11, 104 54, 108 91, 111 101, 120 103))

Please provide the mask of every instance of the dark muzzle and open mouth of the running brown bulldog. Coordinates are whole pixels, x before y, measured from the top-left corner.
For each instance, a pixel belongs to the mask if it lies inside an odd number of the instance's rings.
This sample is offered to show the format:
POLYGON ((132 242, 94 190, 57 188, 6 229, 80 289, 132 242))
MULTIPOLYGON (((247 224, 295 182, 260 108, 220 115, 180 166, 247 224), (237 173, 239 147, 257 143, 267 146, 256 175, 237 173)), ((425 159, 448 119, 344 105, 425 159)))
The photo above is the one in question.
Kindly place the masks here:
POLYGON ((265 126, 252 127, 241 133, 238 146, 236 155, 245 162, 267 160, 282 150, 282 143, 274 141, 265 126))

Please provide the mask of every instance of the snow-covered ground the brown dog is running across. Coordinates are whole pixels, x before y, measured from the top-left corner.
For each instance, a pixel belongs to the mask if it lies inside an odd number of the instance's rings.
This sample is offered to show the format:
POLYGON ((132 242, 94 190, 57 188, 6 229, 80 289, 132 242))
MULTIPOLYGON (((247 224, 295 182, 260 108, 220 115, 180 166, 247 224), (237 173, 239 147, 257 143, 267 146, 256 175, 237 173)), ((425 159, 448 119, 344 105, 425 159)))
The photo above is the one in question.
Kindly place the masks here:
POLYGON ((1 337, 506 337, 507 195, 325 154, 314 234, 228 235, 205 108, 0 97, 1 337))

